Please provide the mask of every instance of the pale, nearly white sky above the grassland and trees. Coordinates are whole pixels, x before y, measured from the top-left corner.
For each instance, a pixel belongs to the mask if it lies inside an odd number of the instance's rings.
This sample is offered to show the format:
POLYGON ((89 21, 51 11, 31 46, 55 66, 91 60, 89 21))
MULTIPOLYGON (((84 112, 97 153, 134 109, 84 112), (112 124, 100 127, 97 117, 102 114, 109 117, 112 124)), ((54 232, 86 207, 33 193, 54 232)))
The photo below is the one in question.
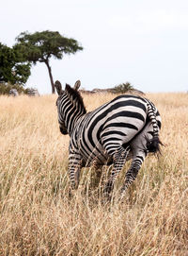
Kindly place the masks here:
MULTIPOLYGON (((2 0, 0 42, 24 31, 52 30, 84 47, 51 59, 54 79, 81 80, 86 90, 129 81, 143 92, 188 91, 187 0, 2 0)), ((27 87, 50 94, 45 64, 31 69, 27 87)))

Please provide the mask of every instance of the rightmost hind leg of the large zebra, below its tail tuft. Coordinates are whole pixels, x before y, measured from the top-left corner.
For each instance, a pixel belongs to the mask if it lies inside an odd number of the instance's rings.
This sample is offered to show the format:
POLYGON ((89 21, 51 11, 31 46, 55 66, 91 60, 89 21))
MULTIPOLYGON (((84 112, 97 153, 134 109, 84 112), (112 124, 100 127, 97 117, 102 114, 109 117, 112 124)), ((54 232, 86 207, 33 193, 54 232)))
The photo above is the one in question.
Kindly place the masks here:
POLYGON ((125 175, 125 181, 120 190, 121 196, 124 195, 127 188, 132 184, 133 180, 136 178, 138 171, 141 168, 141 165, 144 162, 146 156, 147 153, 145 151, 140 151, 140 154, 136 154, 136 156, 133 157, 133 162, 125 175))

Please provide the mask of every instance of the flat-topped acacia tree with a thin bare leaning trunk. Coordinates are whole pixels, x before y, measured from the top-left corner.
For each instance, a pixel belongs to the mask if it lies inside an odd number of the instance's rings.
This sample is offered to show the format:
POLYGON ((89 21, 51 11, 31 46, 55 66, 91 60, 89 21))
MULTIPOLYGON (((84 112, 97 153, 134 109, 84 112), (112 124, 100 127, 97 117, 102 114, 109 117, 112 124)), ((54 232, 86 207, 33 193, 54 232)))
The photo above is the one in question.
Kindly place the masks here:
POLYGON ((74 39, 63 37, 57 31, 42 31, 29 34, 21 33, 16 38, 15 48, 19 49, 25 60, 36 64, 38 61, 46 64, 52 85, 52 93, 55 94, 55 84, 50 66, 50 58, 61 60, 64 54, 75 54, 83 47, 74 39))

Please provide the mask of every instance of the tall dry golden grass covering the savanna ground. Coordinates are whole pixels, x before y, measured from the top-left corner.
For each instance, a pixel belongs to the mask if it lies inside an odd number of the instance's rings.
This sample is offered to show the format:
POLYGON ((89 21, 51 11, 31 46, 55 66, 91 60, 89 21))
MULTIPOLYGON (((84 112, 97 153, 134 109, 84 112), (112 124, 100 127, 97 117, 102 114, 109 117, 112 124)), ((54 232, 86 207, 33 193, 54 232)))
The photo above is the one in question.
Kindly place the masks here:
MULTIPOLYGON (((86 109, 113 97, 85 95, 86 109)), ((162 155, 106 205, 92 168, 69 196, 56 96, 0 97, 0 255, 188 255, 188 94, 147 97, 163 118, 162 155)))

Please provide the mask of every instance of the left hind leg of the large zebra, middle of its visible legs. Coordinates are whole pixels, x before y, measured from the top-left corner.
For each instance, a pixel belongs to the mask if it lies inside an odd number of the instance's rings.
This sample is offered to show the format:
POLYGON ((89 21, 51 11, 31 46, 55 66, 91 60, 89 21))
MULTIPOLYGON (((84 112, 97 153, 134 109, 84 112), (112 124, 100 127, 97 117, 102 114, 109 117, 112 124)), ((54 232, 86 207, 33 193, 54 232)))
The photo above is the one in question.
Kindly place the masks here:
POLYGON ((111 191, 113 190, 115 180, 117 179, 119 172, 122 170, 122 168, 126 162, 126 158, 129 153, 129 150, 130 150, 129 146, 126 148, 120 146, 116 150, 116 152, 113 156, 114 167, 113 167, 112 173, 110 175, 110 178, 108 179, 107 183, 105 184, 105 187, 103 190, 103 192, 104 192, 104 194, 106 194, 106 196, 109 196, 111 191))

